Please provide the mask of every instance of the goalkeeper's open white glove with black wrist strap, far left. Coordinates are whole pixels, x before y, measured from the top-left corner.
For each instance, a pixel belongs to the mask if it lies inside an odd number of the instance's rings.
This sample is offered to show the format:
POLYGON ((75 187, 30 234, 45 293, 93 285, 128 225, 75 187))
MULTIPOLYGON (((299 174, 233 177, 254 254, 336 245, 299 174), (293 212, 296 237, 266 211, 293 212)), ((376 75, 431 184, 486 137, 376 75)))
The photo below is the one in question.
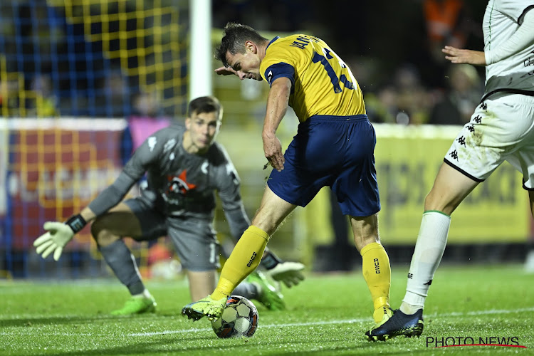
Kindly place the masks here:
POLYGON ((57 221, 47 221, 43 225, 46 234, 39 236, 36 241, 33 241, 33 246, 36 247, 36 252, 43 258, 48 257, 53 252, 54 260, 58 261, 63 252, 63 247, 86 224, 83 217, 79 214, 70 217, 65 224, 57 221))

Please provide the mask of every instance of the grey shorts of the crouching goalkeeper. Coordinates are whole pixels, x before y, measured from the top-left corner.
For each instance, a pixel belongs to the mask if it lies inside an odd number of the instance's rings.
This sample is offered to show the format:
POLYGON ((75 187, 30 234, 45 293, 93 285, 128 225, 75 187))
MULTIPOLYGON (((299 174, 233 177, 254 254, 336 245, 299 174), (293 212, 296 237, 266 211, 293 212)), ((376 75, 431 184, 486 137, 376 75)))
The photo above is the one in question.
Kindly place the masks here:
POLYGON ((219 268, 219 242, 213 223, 206 219, 167 217, 142 197, 124 201, 139 220, 142 236, 149 241, 169 236, 183 268, 189 271, 213 271, 219 268))

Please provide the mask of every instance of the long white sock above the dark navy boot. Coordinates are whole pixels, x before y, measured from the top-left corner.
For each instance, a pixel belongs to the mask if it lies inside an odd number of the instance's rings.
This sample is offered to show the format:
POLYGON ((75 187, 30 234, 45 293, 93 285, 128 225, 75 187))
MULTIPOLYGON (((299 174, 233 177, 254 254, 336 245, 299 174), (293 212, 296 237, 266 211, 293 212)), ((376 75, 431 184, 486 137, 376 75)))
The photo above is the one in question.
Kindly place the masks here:
POLYGON ((445 251, 450 224, 451 216, 441 211, 426 211, 423 214, 410 263, 406 295, 400 307, 402 313, 413 314, 424 307, 430 283, 445 251))

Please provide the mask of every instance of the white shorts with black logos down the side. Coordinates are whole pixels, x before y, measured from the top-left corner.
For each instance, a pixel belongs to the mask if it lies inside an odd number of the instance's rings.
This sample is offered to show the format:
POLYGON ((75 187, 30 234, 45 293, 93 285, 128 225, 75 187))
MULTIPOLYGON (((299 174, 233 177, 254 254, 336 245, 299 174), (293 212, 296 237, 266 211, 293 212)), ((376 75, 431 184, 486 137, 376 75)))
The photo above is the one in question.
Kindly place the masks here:
POLYGON ((445 155, 444 162, 483 182, 504 161, 523 173, 534 190, 534 97, 493 95, 479 104, 445 155))

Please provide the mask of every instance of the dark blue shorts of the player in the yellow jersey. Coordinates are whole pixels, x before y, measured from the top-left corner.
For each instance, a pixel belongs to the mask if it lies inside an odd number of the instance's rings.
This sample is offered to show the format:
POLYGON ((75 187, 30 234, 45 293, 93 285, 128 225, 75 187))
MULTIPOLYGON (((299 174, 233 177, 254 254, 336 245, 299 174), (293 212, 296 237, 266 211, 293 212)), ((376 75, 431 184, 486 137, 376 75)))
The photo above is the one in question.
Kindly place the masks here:
POLYGON ((367 115, 310 117, 298 125, 284 154, 284 169, 273 169, 268 187, 288 203, 306 206, 328 186, 343 214, 375 214, 380 210, 376 143, 367 115))

